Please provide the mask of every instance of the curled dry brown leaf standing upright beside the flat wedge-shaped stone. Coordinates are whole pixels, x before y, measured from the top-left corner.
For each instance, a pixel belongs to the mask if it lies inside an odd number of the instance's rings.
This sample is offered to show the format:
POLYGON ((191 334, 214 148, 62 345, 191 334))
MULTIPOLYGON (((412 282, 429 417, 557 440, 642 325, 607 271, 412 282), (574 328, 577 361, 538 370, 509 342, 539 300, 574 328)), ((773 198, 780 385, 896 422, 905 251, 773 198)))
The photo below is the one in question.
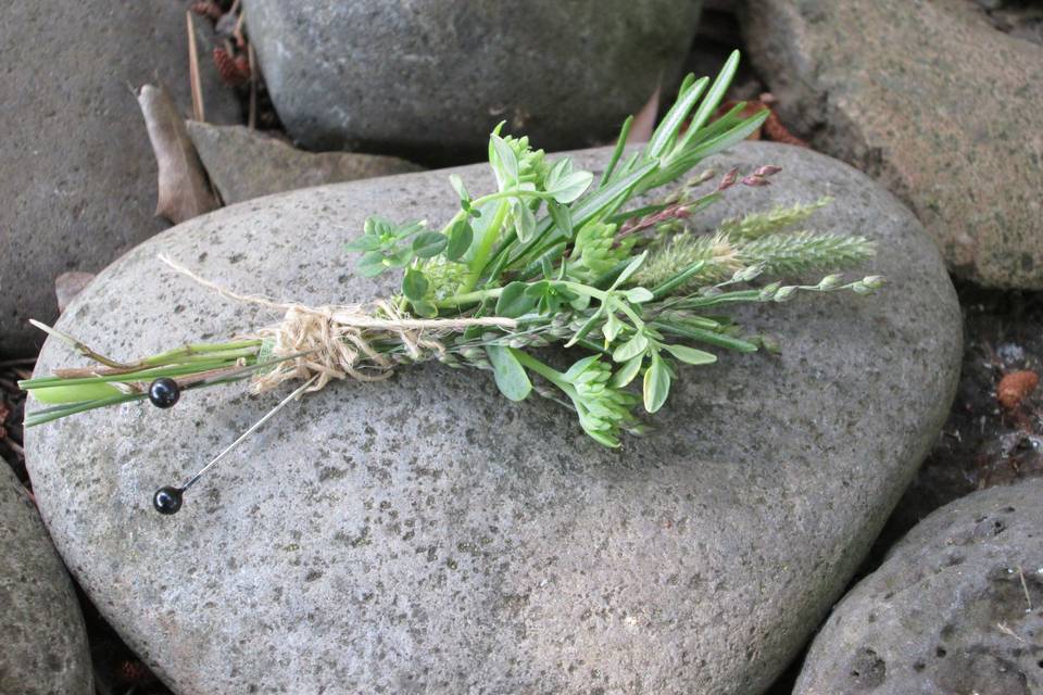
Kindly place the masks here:
POLYGON ((146 85, 138 92, 138 103, 159 167, 155 214, 180 224, 216 208, 217 200, 174 100, 162 87, 146 85))

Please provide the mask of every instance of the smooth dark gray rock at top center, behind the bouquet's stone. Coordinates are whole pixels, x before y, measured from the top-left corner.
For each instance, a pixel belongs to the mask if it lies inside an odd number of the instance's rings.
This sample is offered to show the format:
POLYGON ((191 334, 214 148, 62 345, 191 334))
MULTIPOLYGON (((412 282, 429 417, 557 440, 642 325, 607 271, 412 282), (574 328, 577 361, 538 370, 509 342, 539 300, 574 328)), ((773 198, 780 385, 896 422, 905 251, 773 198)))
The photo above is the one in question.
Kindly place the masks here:
POLYGON ((313 150, 485 151, 604 142, 673 84, 700 0, 249 0, 275 108, 313 150), (360 147, 361 146, 361 147, 360 147))

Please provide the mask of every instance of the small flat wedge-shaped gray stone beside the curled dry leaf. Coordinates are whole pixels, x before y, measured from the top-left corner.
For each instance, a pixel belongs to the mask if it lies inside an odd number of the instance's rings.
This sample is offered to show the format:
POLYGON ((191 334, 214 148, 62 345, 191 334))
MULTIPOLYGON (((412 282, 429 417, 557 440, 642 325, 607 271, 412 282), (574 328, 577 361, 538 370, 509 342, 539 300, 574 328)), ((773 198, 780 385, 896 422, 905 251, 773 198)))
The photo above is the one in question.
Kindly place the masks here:
POLYGON ((247 126, 190 121, 188 134, 226 205, 298 188, 419 172, 393 156, 304 152, 247 126))

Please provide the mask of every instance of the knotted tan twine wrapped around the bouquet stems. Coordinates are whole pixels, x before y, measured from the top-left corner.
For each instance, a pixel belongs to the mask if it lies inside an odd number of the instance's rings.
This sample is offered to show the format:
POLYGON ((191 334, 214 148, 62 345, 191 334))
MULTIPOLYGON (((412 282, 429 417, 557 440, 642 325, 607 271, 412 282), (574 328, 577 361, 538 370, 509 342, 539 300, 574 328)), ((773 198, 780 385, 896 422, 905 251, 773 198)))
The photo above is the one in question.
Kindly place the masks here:
POLYGON ((309 391, 319 391, 334 379, 387 379, 393 374, 397 363, 373 346, 376 341, 397 340, 409 362, 423 362, 445 355, 441 339, 449 334, 463 332, 473 326, 517 327, 514 319, 499 316, 413 318, 386 300, 323 306, 277 302, 265 296, 240 294, 200 277, 166 255, 158 257, 175 271, 222 296, 285 312, 278 324, 243 337, 263 341, 257 362, 278 361, 271 370, 253 378, 255 393, 269 391, 285 381, 312 377, 316 379, 309 391))

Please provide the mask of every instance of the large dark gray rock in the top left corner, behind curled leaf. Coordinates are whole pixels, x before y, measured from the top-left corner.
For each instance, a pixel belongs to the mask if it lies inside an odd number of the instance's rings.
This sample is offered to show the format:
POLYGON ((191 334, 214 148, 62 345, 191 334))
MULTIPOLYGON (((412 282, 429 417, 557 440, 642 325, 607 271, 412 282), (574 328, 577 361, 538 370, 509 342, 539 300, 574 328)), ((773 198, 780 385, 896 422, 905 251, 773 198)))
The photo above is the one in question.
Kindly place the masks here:
MULTIPOLYGON (((12 0, 0 24, 0 355, 35 353, 26 321, 58 315, 54 278, 93 273, 165 228, 131 87, 159 79, 190 110, 187 3, 12 0)), ((200 28, 204 28, 200 23, 200 28)), ((206 116, 239 105, 201 43, 206 116)))

